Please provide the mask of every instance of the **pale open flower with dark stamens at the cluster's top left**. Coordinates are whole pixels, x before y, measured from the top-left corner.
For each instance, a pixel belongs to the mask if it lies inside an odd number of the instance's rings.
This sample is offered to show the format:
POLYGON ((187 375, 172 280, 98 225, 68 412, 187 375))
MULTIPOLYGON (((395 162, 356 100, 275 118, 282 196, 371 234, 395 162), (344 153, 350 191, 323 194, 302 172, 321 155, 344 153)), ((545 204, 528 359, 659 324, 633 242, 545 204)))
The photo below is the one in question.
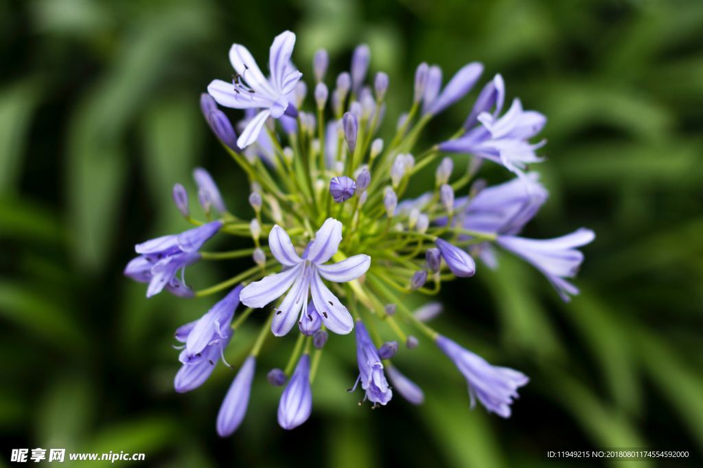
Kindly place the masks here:
POLYGON ((269 55, 271 77, 266 79, 247 48, 233 44, 229 51, 229 60, 237 72, 233 83, 213 80, 207 86, 207 92, 220 105, 234 109, 263 109, 240 135, 238 147, 245 148, 255 142, 269 116, 278 119, 283 112, 295 116, 295 107, 289 106, 288 95, 295 89, 302 73, 290 65, 294 46, 295 34, 290 31, 273 39, 269 55))

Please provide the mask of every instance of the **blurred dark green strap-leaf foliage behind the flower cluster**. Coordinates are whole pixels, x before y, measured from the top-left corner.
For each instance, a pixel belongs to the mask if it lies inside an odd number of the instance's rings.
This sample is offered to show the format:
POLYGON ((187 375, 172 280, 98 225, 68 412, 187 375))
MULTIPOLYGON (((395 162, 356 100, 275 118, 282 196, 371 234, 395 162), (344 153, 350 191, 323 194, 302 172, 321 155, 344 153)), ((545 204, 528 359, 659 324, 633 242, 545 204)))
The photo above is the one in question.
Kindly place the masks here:
MULTIPOLYGON (((0 25, 0 466, 10 448, 35 447, 144 452, 162 467, 567 466, 546 450, 644 447, 700 460, 703 2, 27 0, 0 1, 0 25), (248 209, 198 95, 231 74, 233 41, 264 57, 283 29, 297 33, 308 75, 316 48, 336 74, 368 43, 372 71, 391 76, 393 121, 422 60, 445 76, 484 62, 484 79, 501 72, 510 98, 548 116, 538 171, 550 200, 526 235, 595 229, 583 293, 564 305, 503 255, 497 272, 444 290, 436 323, 531 376, 510 420, 470 411, 462 378, 430 343, 398 359, 425 405, 397 398, 371 411, 344 392, 353 338, 332 340, 313 417, 290 433, 265 373, 292 340, 266 345, 229 439, 214 422, 231 370, 173 391, 172 331, 212 300, 146 300, 122 269, 134 243, 186 227, 170 189, 192 189, 193 166, 212 171, 231 210, 248 209)), ((427 142, 468 109, 451 107, 427 142)), ((198 265, 191 281, 243 265, 198 265)), ((253 333, 238 334, 231 362, 253 333)))

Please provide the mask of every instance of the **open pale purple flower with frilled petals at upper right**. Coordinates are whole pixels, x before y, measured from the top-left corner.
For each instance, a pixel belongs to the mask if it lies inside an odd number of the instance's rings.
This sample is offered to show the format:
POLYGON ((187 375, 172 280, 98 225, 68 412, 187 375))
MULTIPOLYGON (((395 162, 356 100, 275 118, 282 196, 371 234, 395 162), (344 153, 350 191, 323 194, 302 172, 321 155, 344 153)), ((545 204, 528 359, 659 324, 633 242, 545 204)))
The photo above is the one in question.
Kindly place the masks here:
POLYGON ((529 163, 539 163, 542 158, 535 150, 543 147, 544 141, 531 144, 528 140, 539 133, 547 119, 535 111, 522 110, 519 99, 503 116, 496 119, 483 112, 478 116, 482 126, 473 128, 456 140, 439 145, 441 151, 474 154, 505 166, 517 175, 523 175, 529 163))

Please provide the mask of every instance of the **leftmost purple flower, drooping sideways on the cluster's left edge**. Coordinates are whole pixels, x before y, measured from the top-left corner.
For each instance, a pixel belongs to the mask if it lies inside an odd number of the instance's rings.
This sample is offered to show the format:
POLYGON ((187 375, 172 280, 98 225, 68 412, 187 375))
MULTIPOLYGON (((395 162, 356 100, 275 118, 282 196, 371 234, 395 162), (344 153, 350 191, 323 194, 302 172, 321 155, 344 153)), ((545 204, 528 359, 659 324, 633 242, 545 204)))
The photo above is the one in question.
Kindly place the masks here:
POLYGON ((213 221, 181 234, 138 243, 134 250, 141 255, 127 264, 124 275, 140 283, 149 283, 146 297, 152 297, 164 288, 174 295, 191 297, 193 291, 182 277, 176 278, 176 274, 200 260, 198 249, 221 227, 221 221, 213 221))

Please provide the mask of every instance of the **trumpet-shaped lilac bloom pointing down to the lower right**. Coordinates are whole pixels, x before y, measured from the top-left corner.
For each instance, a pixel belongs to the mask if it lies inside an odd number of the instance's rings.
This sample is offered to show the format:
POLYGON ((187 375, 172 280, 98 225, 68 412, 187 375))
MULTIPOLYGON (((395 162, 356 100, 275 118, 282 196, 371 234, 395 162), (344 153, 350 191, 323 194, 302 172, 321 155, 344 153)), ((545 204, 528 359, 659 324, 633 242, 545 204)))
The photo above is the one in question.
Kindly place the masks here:
POLYGON ((517 389, 529 382, 527 375, 515 369, 491 366, 481 356, 442 335, 437 337, 437 346, 466 378, 471 408, 475 407, 478 398, 489 412, 510 417, 510 405, 517 398, 517 389))

